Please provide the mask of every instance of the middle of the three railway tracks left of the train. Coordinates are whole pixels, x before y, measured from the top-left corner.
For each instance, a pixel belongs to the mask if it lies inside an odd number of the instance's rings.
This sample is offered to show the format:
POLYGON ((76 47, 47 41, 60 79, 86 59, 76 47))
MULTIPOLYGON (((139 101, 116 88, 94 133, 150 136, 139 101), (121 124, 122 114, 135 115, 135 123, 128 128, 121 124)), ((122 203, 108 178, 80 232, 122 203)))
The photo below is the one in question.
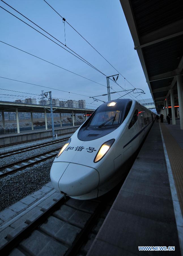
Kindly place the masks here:
MULTIPOLYGON (((69 134, 71 134, 71 133, 69 133, 69 134)), ((59 142, 62 142, 62 141, 67 141, 69 138, 70 137, 63 138, 63 139, 58 139, 56 141, 47 141, 47 142, 40 143, 40 144, 37 144, 37 145, 30 145, 30 146, 27 146, 27 147, 21 148, 21 149, 10 150, 10 151, 7 151, 7 152, 1 154, 0 159, 4 158, 4 157, 7 157, 7 156, 12 156, 12 155, 15 155, 15 154, 27 152, 27 151, 30 151, 30 150, 33 150, 33 149, 42 148, 44 146, 53 145, 53 144, 56 144, 56 143, 59 143, 59 142)))

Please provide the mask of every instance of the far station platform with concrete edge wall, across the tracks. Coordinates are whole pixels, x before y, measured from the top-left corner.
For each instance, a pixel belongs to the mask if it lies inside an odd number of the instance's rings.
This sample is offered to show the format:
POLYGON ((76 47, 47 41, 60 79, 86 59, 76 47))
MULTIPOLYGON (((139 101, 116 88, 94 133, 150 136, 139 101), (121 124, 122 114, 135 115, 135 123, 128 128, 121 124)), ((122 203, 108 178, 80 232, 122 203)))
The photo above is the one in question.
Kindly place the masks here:
MULTIPOLYGON (((55 134, 61 135, 63 133, 69 133, 76 131, 80 127, 80 125, 75 126, 63 126, 63 127, 55 127, 55 134)), ((30 130, 30 131, 22 131, 20 133, 10 133, 10 134, 2 134, 0 135, 0 145, 7 145, 15 142, 22 141, 30 141, 32 139, 40 139, 44 137, 48 137, 52 135, 52 129, 41 129, 41 130, 30 130)))

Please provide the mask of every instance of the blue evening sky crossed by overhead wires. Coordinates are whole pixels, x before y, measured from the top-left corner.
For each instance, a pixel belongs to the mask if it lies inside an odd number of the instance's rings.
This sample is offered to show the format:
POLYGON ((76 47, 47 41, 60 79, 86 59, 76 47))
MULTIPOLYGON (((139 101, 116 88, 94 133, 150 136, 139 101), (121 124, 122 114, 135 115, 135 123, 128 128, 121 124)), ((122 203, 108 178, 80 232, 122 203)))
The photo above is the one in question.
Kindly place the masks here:
MULTIPOLYGON (((43 0, 6 0, 6 2, 52 34, 61 42, 65 42, 64 24, 62 19, 43 0)), ((144 73, 137 52, 127 26, 127 22, 119 0, 47 0, 58 13, 64 17, 82 36, 84 36, 126 79, 136 88, 142 88, 146 94, 142 98, 151 98, 144 73)), ((0 1, 0 5, 27 21, 16 11, 0 1)), ((14 16, 0 8, 0 40, 33 55, 50 61, 79 75, 107 85, 106 77, 92 69, 55 43, 51 42, 14 16)), ((32 25, 37 28, 35 25, 32 25)), ((41 31, 41 29, 38 28, 41 31)), ((44 32, 44 34, 46 34, 44 32)), ((105 75, 117 72, 113 69, 90 45, 88 45, 67 23, 65 23, 66 44, 76 53, 90 62, 105 75)), ((55 40, 56 41, 56 40, 55 40)), ((52 89, 52 96, 60 99, 85 99, 88 108, 96 108, 101 102, 93 102, 86 96, 96 96, 107 93, 107 88, 71 74, 33 56, 27 55, 10 46, 0 43, 0 76, 15 80, 29 82, 60 89, 64 91, 83 94, 61 92, 52 89), (93 102, 93 105, 91 104, 93 102)), ((117 81, 122 87, 131 89, 132 86, 119 76, 117 81)), ((32 94, 41 94, 49 91, 47 88, 16 82, 0 78, 1 89, 15 90, 24 93, 0 90, 0 99, 14 101, 24 99, 25 96, 34 97, 32 94), (25 94, 28 92, 30 94, 25 94), (2 95, 10 94, 11 96, 2 95), (17 96, 14 96, 17 95, 17 96)), ((122 90, 117 84, 110 81, 110 86, 115 91, 122 90)), ((112 90, 111 90, 112 92, 112 90)), ((123 95, 123 93, 121 93, 123 95)), ((134 94, 137 96, 137 94, 134 94)), ((40 96, 35 96, 37 99, 40 96)), ((111 94, 111 99, 120 97, 111 94)), ((126 96, 125 98, 130 98, 126 96)), ((99 97, 107 101, 107 96, 99 97)), ((140 96, 138 99, 141 99, 140 96)))

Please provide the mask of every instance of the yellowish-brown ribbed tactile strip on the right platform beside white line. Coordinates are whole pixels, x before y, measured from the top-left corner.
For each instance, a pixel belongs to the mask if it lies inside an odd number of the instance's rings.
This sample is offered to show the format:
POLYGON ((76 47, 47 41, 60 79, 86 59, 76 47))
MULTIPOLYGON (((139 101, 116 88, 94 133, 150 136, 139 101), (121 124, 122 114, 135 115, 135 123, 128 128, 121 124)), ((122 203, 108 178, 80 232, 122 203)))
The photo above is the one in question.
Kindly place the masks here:
POLYGON ((172 174, 175 181, 177 196, 183 215, 183 150, 177 144, 176 140, 163 123, 161 124, 161 131, 163 133, 172 174))

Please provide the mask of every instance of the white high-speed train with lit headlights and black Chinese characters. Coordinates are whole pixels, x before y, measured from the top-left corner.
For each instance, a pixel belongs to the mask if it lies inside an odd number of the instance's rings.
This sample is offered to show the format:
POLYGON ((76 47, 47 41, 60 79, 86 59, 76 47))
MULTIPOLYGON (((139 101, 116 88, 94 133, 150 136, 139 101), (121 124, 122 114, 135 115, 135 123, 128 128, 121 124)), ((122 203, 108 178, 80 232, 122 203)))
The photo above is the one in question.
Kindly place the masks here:
POLYGON ((99 106, 55 158, 50 178, 56 190, 75 199, 107 193, 120 182, 120 166, 139 148, 155 117, 136 100, 99 106))

